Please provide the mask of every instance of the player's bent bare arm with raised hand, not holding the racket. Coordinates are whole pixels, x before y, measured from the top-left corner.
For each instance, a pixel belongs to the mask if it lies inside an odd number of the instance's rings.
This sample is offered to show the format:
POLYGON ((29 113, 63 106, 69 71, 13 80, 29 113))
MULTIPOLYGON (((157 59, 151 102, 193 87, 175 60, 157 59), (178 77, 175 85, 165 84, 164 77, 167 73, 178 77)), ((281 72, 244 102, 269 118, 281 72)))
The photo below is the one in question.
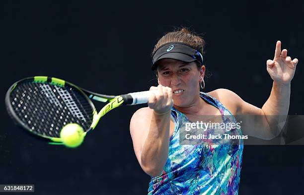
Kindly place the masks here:
MULTIPOLYGON (((282 130, 278 124, 285 124, 290 104, 290 82, 294 77, 298 60, 287 56, 287 50, 281 52, 281 42, 276 44, 274 60, 267 61, 267 71, 273 81, 270 96, 262 108, 243 101, 235 93, 226 90, 225 97, 237 108, 236 115, 242 118, 242 130, 245 134, 262 139, 272 139, 282 130), (248 115, 261 116, 258 121, 248 115), (247 117, 246 117, 247 116, 247 117)), ((283 127, 283 126, 281 126, 283 127)))

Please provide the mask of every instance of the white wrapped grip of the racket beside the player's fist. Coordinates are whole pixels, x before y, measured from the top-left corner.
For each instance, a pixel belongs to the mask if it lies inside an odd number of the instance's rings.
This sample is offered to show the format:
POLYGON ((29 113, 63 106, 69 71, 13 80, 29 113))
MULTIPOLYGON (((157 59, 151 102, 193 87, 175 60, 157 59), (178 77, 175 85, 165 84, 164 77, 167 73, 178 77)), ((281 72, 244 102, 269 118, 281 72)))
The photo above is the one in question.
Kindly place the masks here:
POLYGON ((148 103, 150 96, 152 95, 152 91, 141 91, 128 93, 126 95, 121 95, 124 99, 125 105, 136 105, 136 104, 145 104, 148 103))

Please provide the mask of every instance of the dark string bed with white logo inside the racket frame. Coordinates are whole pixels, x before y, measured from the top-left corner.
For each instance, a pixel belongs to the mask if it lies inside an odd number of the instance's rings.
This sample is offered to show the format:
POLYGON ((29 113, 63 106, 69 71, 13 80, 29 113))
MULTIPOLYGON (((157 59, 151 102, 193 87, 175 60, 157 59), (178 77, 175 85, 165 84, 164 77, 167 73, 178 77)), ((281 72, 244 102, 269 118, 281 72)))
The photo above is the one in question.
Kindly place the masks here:
POLYGON ((11 92, 12 108, 28 130, 48 137, 60 137, 61 129, 77 123, 88 130, 93 108, 74 88, 47 83, 19 83, 11 92))

